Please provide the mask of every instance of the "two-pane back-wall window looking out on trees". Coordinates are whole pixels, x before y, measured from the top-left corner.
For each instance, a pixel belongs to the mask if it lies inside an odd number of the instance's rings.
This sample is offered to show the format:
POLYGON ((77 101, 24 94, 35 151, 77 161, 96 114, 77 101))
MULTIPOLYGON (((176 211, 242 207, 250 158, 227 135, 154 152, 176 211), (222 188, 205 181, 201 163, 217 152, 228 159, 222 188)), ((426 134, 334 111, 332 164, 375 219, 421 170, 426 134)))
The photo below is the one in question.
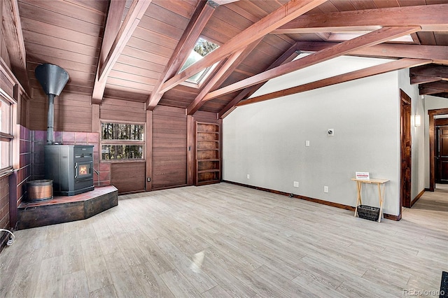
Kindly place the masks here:
POLYGON ((102 159, 143 159, 144 124, 102 123, 102 159))

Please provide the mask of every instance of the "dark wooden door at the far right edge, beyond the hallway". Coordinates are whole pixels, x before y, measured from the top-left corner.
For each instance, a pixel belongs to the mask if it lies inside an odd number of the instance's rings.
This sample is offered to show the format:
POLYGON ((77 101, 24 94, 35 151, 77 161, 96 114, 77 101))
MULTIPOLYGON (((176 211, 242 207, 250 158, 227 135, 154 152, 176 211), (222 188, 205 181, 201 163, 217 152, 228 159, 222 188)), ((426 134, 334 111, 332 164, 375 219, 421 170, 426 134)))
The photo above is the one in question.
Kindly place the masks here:
POLYGON ((435 129, 435 182, 448 183, 448 126, 435 129))

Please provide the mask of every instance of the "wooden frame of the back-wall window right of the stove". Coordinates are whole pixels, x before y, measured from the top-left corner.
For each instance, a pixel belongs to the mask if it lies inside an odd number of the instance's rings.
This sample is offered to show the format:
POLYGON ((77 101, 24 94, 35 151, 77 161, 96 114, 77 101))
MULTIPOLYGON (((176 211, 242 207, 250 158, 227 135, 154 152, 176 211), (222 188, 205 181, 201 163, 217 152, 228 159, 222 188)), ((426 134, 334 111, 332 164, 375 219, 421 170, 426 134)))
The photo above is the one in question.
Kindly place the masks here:
POLYGON ((133 121, 122 121, 122 120, 101 120, 99 123, 99 161, 100 162, 139 162, 146 160, 146 123, 145 122, 133 122, 133 121), (103 139, 103 129, 102 125, 106 124, 121 124, 121 125, 141 125, 144 127, 143 141, 137 140, 105 140, 103 139), (141 158, 126 158, 126 159, 103 159, 103 146, 143 146, 143 152, 141 158))

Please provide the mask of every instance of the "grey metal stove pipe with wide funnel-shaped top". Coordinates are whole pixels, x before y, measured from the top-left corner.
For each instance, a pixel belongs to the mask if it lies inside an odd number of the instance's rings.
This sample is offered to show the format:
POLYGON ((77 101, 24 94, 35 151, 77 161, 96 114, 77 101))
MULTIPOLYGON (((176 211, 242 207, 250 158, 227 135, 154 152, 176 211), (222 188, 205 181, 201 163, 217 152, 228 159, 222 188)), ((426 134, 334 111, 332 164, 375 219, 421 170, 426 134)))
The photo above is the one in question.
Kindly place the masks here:
POLYGON ((61 94, 69 81, 69 74, 61 67, 44 63, 34 70, 43 92, 48 95, 47 145, 53 143, 53 126, 55 120, 55 96, 61 94))

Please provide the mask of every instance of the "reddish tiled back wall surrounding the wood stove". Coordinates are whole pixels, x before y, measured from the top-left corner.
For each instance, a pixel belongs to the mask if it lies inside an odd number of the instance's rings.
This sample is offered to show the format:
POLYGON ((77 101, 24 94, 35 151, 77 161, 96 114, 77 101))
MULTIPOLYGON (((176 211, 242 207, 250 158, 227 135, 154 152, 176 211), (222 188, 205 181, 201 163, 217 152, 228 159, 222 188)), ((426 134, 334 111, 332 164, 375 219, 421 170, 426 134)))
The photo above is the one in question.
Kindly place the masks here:
MULTIPOLYGON (((111 168, 109 164, 99 163, 99 133, 96 132, 55 132, 55 143, 64 145, 93 145, 94 185, 111 184, 111 168)), ((44 149, 47 143, 47 132, 36 130, 31 132, 32 180, 43 179, 45 175, 44 149)))

